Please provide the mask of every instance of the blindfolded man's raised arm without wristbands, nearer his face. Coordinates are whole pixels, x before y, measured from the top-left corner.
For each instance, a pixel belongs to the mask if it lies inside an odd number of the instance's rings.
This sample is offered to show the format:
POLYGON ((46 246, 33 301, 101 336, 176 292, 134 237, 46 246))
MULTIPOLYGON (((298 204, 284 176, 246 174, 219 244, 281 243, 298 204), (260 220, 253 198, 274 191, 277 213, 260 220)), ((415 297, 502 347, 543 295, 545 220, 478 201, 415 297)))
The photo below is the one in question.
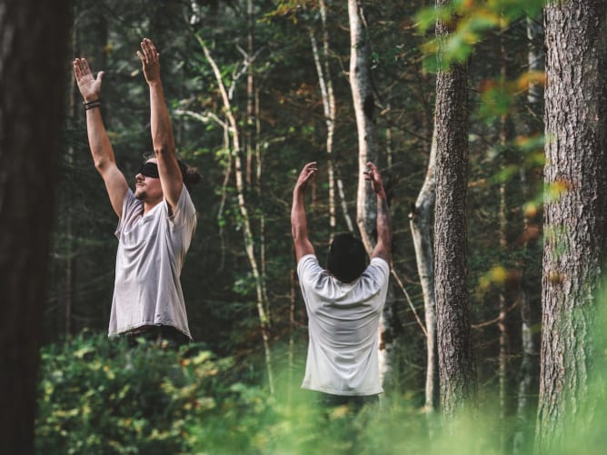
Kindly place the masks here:
POLYGON ((144 68, 145 81, 150 87, 150 127, 160 184, 164 198, 173 211, 184 187, 184 179, 177 162, 173 127, 164 101, 163 84, 160 80, 160 54, 152 41, 144 38, 141 42, 141 52, 137 51, 137 55, 144 68))

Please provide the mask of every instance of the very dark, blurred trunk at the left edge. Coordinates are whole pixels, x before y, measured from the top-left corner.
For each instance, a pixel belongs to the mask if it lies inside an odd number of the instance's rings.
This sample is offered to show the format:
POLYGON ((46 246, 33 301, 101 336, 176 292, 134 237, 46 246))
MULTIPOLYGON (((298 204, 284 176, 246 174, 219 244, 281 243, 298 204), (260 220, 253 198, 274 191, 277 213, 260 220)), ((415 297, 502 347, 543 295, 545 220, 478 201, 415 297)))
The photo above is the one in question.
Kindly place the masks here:
POLYGON ((71 7, 0 1, 0 452, 34 453, 71 7))

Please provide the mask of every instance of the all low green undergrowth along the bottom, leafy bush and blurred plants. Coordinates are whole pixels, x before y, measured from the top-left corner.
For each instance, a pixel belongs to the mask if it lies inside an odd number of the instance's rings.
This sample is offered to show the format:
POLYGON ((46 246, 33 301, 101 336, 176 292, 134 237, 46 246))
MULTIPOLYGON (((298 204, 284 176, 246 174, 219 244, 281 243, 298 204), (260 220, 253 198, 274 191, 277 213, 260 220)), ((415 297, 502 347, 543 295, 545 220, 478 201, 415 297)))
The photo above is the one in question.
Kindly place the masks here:
MULTIPOLYGON (((599 316, 597 327, 604 312, 599 316)), ((598 347, 595 373, 604 373, 607 356, 604 344, 598 347)), ((311 392, 292 383, 299 376, 279 374, 271 396, 255 381, 243 381, 243 367, 195 345, 182 351, 128 348, 103 335, 48 346, 42 351, 36 451, 500 454, 508 453, 500 447, 500 429, 515 428, 513 417, 500 419, 491 393, 481 393, 477 406, 454 420, 426 414, 413 395, 398 392, 384 396, 379 409, 354 414, 316 407, 311 392)), ((592 376, 590 391, 592 403, 572 420, 562 450, 552 453, 579 447, 601 453, 607 408, 600 374, 592 376)), ((531 444, 521 453, 531 454, 531 444)))

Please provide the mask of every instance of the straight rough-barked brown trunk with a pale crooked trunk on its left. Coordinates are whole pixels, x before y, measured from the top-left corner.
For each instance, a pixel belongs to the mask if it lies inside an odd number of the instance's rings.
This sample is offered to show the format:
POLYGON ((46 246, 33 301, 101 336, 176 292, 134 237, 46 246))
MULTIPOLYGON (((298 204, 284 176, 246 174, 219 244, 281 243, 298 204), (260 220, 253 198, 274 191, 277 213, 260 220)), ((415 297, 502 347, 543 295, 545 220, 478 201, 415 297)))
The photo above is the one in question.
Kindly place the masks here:
MULTIPOLYGON (((449 4, 437 1, 439 6, 449 4)), ((447 25, 438 21, 436 34, 442 46, 442 38, 449 34, 447 25)), ((438 56, 441 64, 440 49, 438 56)), ((466 64, 451 63, 448 70, 439 70, 434 276, 441 407, 445 416, 453 416, 463 408, 476 388, 466 288, 467 95, 466 64)))

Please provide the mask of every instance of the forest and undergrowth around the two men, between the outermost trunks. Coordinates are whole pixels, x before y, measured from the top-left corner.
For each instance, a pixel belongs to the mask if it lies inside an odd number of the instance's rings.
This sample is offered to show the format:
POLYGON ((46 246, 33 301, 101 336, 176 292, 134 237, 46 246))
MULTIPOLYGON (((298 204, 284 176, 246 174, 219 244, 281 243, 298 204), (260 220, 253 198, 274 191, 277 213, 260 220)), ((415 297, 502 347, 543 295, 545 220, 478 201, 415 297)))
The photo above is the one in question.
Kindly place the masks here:
MULTIPOLYGON (((38 451, 265 453, 297 447, 303 453, 312 447, 348 451, 356 443, 363 452, 397 453, 430 447, 439 425, 427 416, 438 407, 438 391, 428 397, 423 289, 411 221, 432 163, 440 70, 433 54, 436 15, 425 1, 359 4, 371 50, 373 98, 365 114, 373 116, 375 161, 393 216, 384 388, 386 415, 400 426, 365 414, 347 424, 333 416, 334 432, 322 434, 322 418, 300 428, 294 423, 312 412, 296 404, 307 331, 289 222, 304 163, 319 163, 308 218, 321 260, 334 232, 357 230, 359 146, 347 3, 78 0, 63 62, 67 115, 44 305, 38 451), (191 192, 198 226, 182 273, 196 355, 179 357, 165 376, 172 354, 129 353, 104 339, 117 220, 88 151, 70 64, 84 56, 94 73, 104 71, 104 122, 119 167, 134 180, 143 153, 151 150, 147 87, 135 54, 143 37, 161 54, 177 149, 204 176, 191 192), (335 101, 330 153, 327 82, 335 101), (120 375, 124 359, 135 365, 133 376, 120 375), (128 401, 135 388, 144 398, 128 401), (164 395, 150 394, 154 389, 164 395), (71 402, 69 391, 84 401, 71 402), (124 414, 107 410, 107 401, 116 400, 123 400, 124 414), (159 417, 152 404, 160 402, 159 417), (91 420, 86 409, 104 410, 107 419, 91 420), (360 440, 349 438, 348 425, 360 440), (110 435, 109 428, 122 432, 110 435)), ((475 400, 489 429, 479 431, 480 420, 464 424, 476 430, 463 431, 470 443, 459 447, 523 452, 532 448, 539 393, 542 198, 556 191, 542 175, 542 2, 453 4, 460 14, 468 12, 469 30, 459 31, 448 52, 453 61, 467 62, 465 287, 475 400)), ((601 437, 594 436, 596 449, 601 437)), ((434 450, 453 450, 451 442, 434 443, 434 450)))

